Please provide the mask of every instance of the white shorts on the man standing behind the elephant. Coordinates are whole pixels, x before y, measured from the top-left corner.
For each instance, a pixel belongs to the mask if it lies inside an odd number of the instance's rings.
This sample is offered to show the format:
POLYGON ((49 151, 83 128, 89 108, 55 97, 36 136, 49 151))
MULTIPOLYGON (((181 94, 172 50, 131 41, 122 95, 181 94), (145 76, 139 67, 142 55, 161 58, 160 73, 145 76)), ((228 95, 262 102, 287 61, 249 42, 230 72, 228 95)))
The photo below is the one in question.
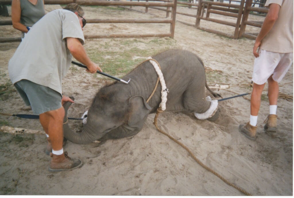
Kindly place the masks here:
POLYGON ((260 49, 254 60, 252 81, 264 84, 273 74, 273 80, 280 82, 293 63, 293 53, 278 53, 260 49))

